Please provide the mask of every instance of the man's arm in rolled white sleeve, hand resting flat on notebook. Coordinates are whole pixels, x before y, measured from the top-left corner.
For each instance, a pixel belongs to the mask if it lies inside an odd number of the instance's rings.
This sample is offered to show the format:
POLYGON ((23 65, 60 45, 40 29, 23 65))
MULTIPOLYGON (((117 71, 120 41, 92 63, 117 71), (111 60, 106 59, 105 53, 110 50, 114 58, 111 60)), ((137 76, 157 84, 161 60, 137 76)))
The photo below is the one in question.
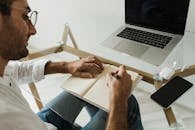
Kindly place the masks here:
POLYGON ((72 62, 48 62, 48 60, 10 61, 4 71, 5 77, 11 77, 19 84, 37 82, 45 74, 70 73, 77 77, 94 77, 101 73, 103 65, 91 56, 72 62))

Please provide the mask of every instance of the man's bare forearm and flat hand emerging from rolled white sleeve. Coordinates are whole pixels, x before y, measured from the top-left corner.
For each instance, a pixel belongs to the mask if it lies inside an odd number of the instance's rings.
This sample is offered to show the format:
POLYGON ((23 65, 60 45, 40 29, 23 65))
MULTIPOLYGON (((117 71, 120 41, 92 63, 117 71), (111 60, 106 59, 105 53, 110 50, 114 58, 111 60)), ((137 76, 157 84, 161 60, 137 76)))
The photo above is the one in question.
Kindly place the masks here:
POLYGON ((76 77, 93 78, 102 71, 101 61, 90 56, 72 62, 48 62, 44 74, 70 73, 76 77))

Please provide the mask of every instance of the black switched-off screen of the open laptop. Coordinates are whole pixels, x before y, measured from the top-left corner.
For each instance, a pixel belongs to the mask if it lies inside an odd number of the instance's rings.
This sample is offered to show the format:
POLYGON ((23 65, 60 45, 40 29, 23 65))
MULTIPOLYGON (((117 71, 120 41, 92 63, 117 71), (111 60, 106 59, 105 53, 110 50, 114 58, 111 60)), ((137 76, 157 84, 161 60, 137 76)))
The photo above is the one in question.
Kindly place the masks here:
POLYGON ((125 0, 125 22, 184 34, 189 0, 125 0))

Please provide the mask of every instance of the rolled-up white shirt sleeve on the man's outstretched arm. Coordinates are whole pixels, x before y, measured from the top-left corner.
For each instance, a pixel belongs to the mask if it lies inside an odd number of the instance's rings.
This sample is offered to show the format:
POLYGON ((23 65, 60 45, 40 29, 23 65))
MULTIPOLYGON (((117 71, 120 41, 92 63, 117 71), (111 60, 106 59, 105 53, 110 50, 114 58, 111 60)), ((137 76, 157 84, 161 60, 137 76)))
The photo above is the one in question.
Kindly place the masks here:
POLYGON ((49 60, 9 61, 4 76, 14 79, 19 84, 37 82, 44 79, 45 65, 49 60))

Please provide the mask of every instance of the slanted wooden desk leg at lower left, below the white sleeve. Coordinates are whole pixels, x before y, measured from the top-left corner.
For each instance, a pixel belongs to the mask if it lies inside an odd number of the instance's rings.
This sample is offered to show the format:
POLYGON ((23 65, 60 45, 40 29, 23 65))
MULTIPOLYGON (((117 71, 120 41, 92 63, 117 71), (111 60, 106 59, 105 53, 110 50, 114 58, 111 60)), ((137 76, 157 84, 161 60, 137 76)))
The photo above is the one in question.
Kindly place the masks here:
POLYGON ((39 96, 39 93, 37 91, 35 84, 30 83, 29 87, 30 87, 30 91, 32 92, 32 95, 34 96, 37 107, 39 108, 39 110, 41 110, 43 108, 43 104, 41 102, 41 99, 40 99, 40 96, 39 96))

